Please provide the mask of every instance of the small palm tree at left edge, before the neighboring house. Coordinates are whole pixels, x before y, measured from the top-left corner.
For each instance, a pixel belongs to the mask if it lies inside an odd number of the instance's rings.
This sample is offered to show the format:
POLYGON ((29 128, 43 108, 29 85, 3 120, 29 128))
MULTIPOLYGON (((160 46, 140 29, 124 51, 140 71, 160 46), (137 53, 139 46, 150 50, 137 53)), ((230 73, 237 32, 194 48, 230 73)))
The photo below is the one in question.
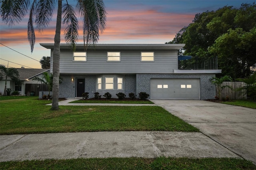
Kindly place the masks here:
POLYGON ((10 77, 12 81, 15 82, 16 85, 21 85, 21 81, 19 79, 20 75, 17 69, 15 68, 6 68, 4 65, 0 65, 0 80, 5 78, 5 84, 4 84, 4 94, 3 96, 6 96, 6 84, 7 84, 7 78, 10 77))

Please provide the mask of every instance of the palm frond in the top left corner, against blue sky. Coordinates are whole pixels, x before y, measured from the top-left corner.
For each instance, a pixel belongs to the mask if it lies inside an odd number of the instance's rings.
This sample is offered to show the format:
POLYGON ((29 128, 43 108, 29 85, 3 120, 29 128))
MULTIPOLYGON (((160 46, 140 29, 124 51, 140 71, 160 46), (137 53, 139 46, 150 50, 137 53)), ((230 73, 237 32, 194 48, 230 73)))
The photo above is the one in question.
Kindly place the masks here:
POLYGON ((19 23, 27 14, 30 0, 1 0, 0 14, 9 26, 19 23))

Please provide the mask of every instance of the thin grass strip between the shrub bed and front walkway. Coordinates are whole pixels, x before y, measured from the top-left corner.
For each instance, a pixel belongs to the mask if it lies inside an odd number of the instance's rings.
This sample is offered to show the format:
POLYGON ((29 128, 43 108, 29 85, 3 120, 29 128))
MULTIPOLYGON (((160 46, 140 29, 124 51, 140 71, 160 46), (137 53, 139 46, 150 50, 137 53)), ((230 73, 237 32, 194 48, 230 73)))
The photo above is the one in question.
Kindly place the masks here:
POLYGON ((70 103, 124 103, 124 104, 154 104, 152 101, 128 101, 128 100, 77 100, 70 103))

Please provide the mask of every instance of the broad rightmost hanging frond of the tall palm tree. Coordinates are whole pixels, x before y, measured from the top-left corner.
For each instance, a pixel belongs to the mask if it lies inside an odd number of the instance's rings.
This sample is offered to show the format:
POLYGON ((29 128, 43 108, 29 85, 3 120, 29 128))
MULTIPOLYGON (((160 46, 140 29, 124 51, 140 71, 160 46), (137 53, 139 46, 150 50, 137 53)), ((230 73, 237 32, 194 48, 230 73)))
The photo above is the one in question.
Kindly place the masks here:
POLYGON ((106 26, 106 11, 102 0, 78 0, 78 12, 83 20, 83 38, 86 47, 98 42, 106 26))

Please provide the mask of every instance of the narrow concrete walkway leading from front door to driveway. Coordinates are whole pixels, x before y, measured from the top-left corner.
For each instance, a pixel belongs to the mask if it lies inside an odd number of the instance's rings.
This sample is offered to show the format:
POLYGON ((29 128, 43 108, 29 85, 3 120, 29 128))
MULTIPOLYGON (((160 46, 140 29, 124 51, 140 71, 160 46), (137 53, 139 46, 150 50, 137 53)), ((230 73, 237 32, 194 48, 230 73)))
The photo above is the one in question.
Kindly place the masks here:
MULTIPOLYGON (((125 103, 69 103, 80 99, 66 99, 59 101, 59 106, 156 106, 155 104, 125 104, 125 103)), ((47 106, 51 106, 52 103, 47 106)))

